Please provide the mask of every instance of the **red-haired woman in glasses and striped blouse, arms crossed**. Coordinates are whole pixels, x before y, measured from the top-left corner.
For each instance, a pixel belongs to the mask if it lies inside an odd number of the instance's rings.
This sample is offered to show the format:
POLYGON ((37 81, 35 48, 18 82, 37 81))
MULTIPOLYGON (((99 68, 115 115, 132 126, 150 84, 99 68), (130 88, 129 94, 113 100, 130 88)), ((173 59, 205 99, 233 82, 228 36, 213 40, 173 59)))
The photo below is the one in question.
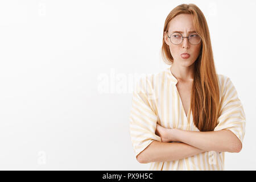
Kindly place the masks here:
POLYGON ((208 25, 193 4, 166 18, 162 54, 171 65, 141 77, 133 93, 130 135, 151 170, 224 170, 224 152, 240 152, 245 112, 229 77, 217 75, 208 25))

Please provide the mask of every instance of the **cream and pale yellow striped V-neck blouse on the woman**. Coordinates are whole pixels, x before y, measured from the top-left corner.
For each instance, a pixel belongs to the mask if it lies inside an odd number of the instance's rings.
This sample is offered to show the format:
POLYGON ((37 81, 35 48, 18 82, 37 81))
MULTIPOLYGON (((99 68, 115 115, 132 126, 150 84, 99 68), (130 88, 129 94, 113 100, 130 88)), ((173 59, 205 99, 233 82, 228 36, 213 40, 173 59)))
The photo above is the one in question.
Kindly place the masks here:
MULTIPOLYGON (((185 111, 176 88, 177 79, 170 67, 159 73, 140 77, 133 90, 129 117, 131 143, 135 157, 151 142, 161 139, 155 134, 156 123, 167 128, 199 131, 189 107, 185 111)), ((214 131, 228 129, 243 141, 245 112, 236 88, 229 77, 218 75, 220 117, 214 131)), ((152 162, 150 170, 224 170, 225 152, 207 151, 168 162, 152 162)))

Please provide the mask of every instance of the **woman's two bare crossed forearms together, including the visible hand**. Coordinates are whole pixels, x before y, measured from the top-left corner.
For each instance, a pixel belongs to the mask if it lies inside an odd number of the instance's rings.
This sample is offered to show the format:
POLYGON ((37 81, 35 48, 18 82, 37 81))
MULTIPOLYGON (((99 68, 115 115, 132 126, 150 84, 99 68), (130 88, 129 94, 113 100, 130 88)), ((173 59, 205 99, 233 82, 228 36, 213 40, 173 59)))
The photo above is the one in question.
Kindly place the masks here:
POLYGON ((240 152, 242 149, 240 139, 230 130, 186 131, 167 129, 157 124, 156 134, 162 142, 151 142, 137 155, 139 163, 184 159, 205 151, 240 152), (169 143, 171 141, 181 143, 169 143))

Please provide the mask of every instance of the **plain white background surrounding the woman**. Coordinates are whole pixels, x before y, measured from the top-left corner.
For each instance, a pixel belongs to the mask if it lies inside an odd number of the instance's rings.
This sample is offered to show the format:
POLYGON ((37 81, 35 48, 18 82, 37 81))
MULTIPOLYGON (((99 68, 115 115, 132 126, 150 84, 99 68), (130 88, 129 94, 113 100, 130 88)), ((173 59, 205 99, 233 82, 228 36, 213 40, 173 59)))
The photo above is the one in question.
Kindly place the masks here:
POLYGON ((167 15, 195 3, 218 74, 246 113, 226 170, 255 170, 256 1, 0 1, 0 169, 141 170, 129 134, 138 75, 167 68, 167 15))

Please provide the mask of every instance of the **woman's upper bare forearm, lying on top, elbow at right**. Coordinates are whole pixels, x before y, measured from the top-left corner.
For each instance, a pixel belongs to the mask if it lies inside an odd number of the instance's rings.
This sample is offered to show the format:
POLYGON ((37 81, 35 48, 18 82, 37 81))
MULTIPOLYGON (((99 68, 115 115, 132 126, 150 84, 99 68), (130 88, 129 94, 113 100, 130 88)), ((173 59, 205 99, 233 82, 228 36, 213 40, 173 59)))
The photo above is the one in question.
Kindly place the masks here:
POLYGON ((170 137, 206 151, 240 152, 240 140, 229 130, 187 131, 172 129, 170 137))

